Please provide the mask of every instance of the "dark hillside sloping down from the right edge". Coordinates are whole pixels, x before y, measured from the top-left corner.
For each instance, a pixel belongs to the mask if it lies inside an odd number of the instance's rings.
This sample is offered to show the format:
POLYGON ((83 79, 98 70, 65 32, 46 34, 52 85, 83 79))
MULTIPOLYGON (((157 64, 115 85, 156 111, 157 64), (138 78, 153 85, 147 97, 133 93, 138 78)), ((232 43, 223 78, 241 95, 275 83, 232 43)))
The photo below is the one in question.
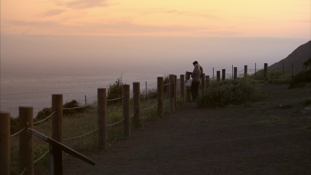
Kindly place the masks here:
POLYGON ((291 54, 289 54, 286 58, 281 61, 271 65, 268 67, 270 69, 281 69, 283 68, 291 68, 292 63, 294 63, 295 67, 302 67, 303 63, 307 61, 311 57, 311 40, 297 49, 295 49, 291 54))

